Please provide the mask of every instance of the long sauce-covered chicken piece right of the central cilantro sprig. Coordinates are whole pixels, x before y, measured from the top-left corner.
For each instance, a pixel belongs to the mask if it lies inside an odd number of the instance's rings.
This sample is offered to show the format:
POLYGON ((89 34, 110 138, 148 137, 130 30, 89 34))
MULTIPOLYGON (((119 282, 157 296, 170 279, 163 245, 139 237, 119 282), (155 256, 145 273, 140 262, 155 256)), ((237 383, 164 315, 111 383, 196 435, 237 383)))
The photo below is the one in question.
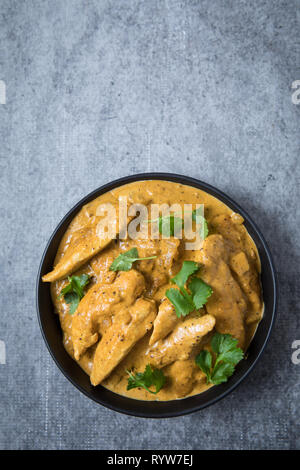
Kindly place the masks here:
POLYGON ((243 348, 245 344, 245 315, 247 302, 233 278, 228 262, 228 252, 222 235, 209 235, 200 251, 201 278, 213 289, 206 310, 216 319, 219 333, 231 334, 243 348))

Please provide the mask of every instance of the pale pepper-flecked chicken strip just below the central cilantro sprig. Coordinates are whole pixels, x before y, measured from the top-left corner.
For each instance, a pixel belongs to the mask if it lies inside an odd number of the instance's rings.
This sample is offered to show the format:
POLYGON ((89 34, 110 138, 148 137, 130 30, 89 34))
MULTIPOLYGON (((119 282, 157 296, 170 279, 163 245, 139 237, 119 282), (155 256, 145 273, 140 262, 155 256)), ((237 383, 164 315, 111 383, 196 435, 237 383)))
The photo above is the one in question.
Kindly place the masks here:
POLYGON ((157 341, 148 349, 149 361, 155 367, 164 367, 174 361, 188 359, 194 347, 214 326, 215 319, 211 315, 188 318, 179 323, 166 339, 157 341))

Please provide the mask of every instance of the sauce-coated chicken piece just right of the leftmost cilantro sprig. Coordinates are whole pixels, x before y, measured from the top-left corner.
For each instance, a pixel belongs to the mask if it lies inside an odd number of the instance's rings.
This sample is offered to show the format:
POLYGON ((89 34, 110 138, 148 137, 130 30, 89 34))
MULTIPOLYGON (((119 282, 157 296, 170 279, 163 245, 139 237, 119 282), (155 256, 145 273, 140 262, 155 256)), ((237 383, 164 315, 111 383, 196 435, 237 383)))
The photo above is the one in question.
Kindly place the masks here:
POLYGON ((132 305, 145 289, 144 277, 134 269, 121 272, 113 284, 95 284, 81 299, 72 319, 74 357, 79 360, 98 341, 111 317, 132 305))

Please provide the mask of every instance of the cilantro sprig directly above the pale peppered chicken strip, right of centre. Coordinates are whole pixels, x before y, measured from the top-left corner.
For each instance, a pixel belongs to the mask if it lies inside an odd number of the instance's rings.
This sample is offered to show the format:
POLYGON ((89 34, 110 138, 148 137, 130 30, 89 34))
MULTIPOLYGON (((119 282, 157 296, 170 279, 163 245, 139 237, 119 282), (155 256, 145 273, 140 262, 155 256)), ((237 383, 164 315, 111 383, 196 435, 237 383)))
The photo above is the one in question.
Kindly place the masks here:
POLYGON ((199 277, 192 277, 187 288, 185 287, 189 277, 198 270, 199 266, 194 261, 184 261, 179 273, 171 279, 179 290, 168 289, 166 297, 174 305, 178 318, 202 308, 212 294, 212 288, 199 277))

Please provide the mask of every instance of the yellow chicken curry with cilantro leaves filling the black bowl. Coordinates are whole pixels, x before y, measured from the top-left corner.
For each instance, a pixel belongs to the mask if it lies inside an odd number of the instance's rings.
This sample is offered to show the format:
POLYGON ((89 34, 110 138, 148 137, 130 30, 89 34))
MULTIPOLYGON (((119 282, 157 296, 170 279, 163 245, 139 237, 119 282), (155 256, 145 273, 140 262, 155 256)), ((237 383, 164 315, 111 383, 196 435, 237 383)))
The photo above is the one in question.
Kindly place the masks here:
POLYGON ((228 380, 263 315, 260 260, 243 218, 170 181, 126 184, 83 206, 43 281, 65 349, 91 383, 139 400, 228 380), (172 210, 153 217, 157 205, 172 210))

